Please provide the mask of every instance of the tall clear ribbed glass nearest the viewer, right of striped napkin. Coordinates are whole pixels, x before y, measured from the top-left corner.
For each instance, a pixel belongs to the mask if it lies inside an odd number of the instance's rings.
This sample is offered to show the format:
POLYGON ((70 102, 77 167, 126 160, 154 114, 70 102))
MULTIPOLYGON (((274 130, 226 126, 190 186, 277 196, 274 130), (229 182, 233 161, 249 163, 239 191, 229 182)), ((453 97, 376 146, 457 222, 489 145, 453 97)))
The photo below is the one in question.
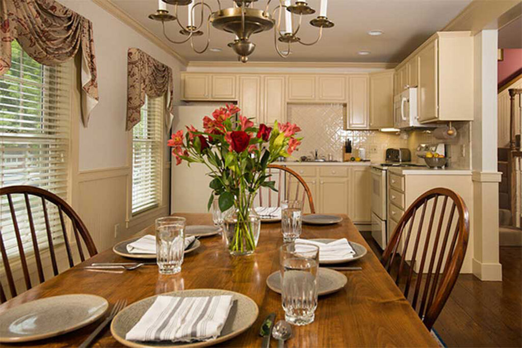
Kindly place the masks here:
POLYGON ((281 301, 284 320, 293 325, 314 321, 317 308, 317 272, 319 247, 287 243, 279 248, 281 301))

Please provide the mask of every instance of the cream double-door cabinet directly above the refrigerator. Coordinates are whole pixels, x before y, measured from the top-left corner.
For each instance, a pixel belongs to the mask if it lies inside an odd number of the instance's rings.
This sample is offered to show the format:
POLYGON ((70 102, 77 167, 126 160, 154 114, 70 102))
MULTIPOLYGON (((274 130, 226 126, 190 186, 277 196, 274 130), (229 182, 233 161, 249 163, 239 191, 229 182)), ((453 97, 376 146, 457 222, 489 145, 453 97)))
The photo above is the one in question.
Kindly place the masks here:
POLYGON ((234 101, 236 95, 236 76, 224 74, 181 75, 183 100, 223 100, 234 101))

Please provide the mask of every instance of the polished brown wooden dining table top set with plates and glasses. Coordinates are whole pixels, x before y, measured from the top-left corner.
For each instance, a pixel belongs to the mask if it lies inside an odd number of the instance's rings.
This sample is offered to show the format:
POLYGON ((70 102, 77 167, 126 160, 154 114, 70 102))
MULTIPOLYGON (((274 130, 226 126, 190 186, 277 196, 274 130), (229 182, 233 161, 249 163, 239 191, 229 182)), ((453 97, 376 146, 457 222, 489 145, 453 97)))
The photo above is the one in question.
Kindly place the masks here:
MULTIPOLYGON (((187 219, 187 225, 212 224, 210 214, 175 214, 187 219)), ((294 326, 288 347, 345 346, 437 346, 430 332, 402 295, 392 278, 381 266, 361 233, 346 215, 341 223, 327 226, 303 225, 303 238, 342 238, 366 247, 368 253, 349 266, 359 271, 343 271, 348 278, 340 291, 319 297, 315 320, 307 326, 294 326)), ((139 234, 152 234, 148 227, 139 234)), ((138 235, 139 235, 138 234, 138 235)), ((118 299, 134 303, 156 294, 185 289, 225 289, 251 297, 259 307, 254 325, 221 346, 260 346, 259 327, 271 312, 276 321, 284 319, 281 295, 271 291, 266 278, 279 270, 278 248, 282 244, 281 224, 262 224, 259 243, 251 256, 232 257, 222 236, 200 238, 201 246, 185 255, 182 271, 161 275, 155 265, 133 271, 105 273, 88 271, 93 262, 129 262, 112 249, 76 265, 31 290, 0 305, 0 313, 37 298, 87 293, 106 298, 112 305, 118 299)), ((58 337, 23 343, 23 346, 77 346, 97 327, 98 323, 58 337)), ((95 346, 121 346, 109 328, 100 334, 95 346)), ((276 346, 276 341, 271 340, 276 346)))

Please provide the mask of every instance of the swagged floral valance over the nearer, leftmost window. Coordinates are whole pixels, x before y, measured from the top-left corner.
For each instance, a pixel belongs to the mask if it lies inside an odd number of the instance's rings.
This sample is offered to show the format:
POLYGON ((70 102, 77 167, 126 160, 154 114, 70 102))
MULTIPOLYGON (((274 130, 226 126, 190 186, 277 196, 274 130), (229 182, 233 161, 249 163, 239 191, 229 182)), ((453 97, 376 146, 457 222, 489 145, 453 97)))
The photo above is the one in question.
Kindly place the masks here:
POLYGON ((81 49, 82 122, 98 103, 92 23, 54 0, 0 0, 0 76, 11 67, 11 41, 35 61, 57 65, 81 49))

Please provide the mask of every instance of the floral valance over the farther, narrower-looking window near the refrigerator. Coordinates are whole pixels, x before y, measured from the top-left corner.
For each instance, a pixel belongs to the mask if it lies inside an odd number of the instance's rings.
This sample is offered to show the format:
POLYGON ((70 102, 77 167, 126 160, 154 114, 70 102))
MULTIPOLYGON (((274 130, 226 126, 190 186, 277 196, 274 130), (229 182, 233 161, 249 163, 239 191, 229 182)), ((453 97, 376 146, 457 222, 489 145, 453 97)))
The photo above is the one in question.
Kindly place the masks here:
POLYGON ((145 95, 157 98, 165 95, 167 109, 164 113, 165 128, 170 128, 174 109, 172 69, 158 62, 140 49, 131 48, 127 53, 127 125, 131 130, 141 119, 140 109, 145 95))

